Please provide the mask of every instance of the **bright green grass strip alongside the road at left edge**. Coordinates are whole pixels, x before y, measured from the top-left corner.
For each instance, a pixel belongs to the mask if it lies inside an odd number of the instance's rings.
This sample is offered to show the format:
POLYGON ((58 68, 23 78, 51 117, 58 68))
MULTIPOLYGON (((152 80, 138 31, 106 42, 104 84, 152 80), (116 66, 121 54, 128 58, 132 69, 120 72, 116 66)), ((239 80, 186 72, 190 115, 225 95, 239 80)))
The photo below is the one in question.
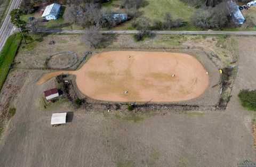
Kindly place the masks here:
POLYGON ((20 34, 13 34, 7 40, 0 53, 0 90, 4 84, 14 56, 22 40, 20 34))

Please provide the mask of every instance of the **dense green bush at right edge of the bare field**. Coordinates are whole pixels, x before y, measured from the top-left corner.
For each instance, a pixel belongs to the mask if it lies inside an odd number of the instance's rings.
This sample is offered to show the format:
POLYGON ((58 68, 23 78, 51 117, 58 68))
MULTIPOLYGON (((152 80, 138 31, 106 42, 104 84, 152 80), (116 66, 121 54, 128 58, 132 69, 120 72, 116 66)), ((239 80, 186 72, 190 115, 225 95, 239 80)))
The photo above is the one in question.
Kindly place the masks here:
POLYGON ((238 97, 243 107, 247 110, 256 111, 256 90, 240 90, 238 97))

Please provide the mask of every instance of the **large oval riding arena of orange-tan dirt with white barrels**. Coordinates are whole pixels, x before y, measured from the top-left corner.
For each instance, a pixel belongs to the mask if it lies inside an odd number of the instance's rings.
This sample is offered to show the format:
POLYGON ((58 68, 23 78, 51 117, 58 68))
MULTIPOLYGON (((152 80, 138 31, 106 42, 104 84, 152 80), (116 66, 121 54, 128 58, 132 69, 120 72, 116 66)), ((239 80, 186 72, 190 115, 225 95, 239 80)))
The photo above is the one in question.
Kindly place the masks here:
POLYGON ((103 52, 69 73, 76 75, 82 93, 112 102, 187 101, 203 94, 209 85, 203 65, 181 53, 103 52))

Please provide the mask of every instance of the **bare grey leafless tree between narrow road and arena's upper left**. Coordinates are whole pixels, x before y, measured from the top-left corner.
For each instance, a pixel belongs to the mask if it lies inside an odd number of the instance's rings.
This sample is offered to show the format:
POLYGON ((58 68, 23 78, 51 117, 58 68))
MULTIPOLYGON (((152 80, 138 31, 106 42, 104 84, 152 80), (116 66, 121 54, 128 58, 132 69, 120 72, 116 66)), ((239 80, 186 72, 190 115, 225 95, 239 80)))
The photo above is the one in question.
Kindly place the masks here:
POLYGON ((102 34, 99 34, 99 29, 96 26, 91 26, 87 29, 87 33, 82 36, 84 41, 90 43, 91 47, 95 48, 102 40, 102 34))

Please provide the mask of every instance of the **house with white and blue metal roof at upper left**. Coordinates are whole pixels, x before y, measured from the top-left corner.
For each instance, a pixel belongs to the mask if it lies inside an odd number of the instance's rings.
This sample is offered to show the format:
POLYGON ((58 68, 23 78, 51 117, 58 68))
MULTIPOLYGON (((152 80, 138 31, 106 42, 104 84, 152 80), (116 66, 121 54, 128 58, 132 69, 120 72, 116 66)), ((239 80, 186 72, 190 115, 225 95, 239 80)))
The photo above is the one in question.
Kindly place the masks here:
POLYGON ((61 6, 59 4, 51 4, 46 6, 44 13, 42 14, 42 18, 46 20, 56 20, 58 19, 59 13, 61 10, 61 6))

